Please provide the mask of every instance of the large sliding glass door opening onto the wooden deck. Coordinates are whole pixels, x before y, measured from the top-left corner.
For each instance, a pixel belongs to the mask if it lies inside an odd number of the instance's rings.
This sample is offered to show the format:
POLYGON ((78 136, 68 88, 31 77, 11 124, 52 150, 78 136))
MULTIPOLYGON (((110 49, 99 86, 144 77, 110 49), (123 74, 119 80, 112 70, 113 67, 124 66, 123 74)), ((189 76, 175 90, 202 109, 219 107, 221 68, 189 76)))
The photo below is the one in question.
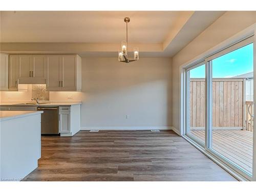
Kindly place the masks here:
POLYGON ((184 80, 185 135, 251 180, 253 38, 185 68, 184 80))

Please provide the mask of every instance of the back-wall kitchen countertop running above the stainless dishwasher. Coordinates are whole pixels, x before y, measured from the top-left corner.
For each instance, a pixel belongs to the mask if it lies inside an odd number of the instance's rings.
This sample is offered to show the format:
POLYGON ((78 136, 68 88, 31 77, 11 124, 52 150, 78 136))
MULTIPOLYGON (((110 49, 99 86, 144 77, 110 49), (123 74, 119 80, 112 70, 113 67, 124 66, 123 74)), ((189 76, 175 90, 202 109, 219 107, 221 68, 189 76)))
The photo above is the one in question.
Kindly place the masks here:
POLYGON ((81 102, 61 102, 61 101, 43 101, 39 104, 29 101, 13 101, 13 102, 2 102, 0 106, 71 106, 76 104, 82 104, 81 102), (26 104, 21 104, 26 103, 26 104))

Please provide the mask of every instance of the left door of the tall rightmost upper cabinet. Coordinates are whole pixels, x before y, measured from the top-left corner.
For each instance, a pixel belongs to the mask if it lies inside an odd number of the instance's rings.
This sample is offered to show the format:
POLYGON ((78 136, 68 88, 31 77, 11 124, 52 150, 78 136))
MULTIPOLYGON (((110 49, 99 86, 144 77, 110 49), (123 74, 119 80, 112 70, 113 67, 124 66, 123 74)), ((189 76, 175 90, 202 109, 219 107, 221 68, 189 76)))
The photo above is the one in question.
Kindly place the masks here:
POLYGON ((61 55, 47 55, 47 89, 61 90, 61 55))

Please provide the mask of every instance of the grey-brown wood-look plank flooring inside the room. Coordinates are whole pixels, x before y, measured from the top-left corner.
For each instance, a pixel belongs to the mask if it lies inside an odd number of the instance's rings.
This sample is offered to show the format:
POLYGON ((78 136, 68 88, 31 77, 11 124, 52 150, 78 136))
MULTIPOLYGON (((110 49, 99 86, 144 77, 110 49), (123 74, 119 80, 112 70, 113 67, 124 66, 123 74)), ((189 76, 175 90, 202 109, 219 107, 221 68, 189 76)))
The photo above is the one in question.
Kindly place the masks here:
POLYGON ((236 181, 173 131, 42 136, 28 181, 236 181))

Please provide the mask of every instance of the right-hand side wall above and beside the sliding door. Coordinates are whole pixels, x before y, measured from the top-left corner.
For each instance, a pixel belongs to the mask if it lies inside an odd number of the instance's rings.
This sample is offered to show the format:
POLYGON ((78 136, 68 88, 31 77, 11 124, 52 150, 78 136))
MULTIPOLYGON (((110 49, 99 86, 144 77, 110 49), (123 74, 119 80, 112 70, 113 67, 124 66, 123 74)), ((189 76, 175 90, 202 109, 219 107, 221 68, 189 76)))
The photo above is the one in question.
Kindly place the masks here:
POLYGON ((228 11, 173 57, 173 126, 180 130, 180 66, 256 22, 256 11, 228 11))

